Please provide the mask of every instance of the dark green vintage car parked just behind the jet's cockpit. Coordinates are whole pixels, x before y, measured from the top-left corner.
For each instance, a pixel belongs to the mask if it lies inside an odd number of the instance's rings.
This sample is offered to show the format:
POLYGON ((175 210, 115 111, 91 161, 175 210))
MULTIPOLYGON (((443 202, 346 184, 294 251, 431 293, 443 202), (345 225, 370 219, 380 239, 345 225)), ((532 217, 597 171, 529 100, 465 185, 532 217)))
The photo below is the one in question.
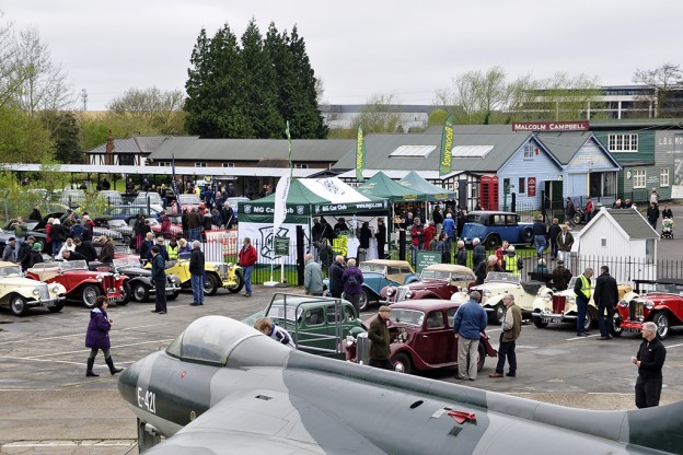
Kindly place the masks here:
POLYGON ((346 358, 347 337, 364 331, 354 305, 342 299, 277 293, 242 322, 254 326, 262 316, 287 329, 297 349, 325 357, 346 358))

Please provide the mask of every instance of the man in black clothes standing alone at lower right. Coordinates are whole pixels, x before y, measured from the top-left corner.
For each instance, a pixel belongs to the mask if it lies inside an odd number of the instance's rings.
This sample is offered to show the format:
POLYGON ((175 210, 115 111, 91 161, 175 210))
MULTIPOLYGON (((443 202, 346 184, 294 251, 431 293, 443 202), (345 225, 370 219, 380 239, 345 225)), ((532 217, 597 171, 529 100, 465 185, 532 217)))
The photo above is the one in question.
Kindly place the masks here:
POLYGON ((662 386, 662 368, 667 360, 667 349, 657 338, 657 324, 643 324, 643 342, 638 353, 630 358, 630 363, 638 366, 636 381, 636 406, 651 408, 659 406, 662 386))

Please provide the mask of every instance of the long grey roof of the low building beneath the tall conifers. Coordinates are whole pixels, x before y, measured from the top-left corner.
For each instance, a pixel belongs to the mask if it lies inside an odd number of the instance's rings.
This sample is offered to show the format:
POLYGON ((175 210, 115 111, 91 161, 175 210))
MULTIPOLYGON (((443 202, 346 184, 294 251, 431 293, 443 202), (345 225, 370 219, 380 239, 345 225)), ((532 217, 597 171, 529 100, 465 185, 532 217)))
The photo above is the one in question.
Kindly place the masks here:
MULTIPOLYGON (((352 139, 296 139, 292 140, 292 161, 337 162, 349 151, 356 150, 352 139)), ((176 139, 170 138, 154 150, 154 161, 222 160, 259 161, 262 159, 288 159, 287 141, 283 139, 176 139)))

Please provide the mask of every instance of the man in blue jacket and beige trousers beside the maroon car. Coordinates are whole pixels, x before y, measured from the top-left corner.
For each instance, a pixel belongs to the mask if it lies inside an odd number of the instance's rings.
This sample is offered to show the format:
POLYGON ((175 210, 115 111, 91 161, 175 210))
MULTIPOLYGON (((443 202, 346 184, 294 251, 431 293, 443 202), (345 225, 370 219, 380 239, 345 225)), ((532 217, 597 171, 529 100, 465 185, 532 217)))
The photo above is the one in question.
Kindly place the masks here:
POLYGON ((481 299, 479 291, 470 292, 470 300, 460 305, 453 316, 453 332, 458 342, 458 380, 476 380, 481 332, 486 330, 488 324, 486 311, 479 305, 481 299))

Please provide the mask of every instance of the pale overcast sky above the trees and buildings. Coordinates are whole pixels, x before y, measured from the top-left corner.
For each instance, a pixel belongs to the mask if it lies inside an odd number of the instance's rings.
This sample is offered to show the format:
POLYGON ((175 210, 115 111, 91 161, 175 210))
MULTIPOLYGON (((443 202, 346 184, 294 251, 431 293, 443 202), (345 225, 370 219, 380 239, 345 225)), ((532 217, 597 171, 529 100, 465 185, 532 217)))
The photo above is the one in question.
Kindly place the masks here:
POLYGON ((16 28, 38 28, 89 110, 130 88, 184 89, 201 27, 241 36, 296 24, 324 100, 364 103, 393 92, 429 104, 465 71, 501 66, 512 80, 557 71, 632 83, 637 68, 683 63, 683 1, 653 0, 0 0, 16 28))

